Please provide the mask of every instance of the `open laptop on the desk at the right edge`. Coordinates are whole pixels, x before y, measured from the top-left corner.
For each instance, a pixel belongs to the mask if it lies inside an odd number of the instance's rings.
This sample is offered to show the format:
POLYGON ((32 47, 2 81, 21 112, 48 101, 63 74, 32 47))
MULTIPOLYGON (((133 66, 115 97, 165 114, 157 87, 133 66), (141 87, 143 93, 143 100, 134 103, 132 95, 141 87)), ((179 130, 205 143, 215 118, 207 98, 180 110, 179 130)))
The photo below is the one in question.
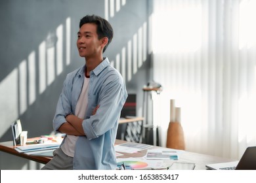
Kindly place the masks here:
POLYGON ((211 170, 256 170, 256 146, 247 147, 240 161, 205 165, 211 170))

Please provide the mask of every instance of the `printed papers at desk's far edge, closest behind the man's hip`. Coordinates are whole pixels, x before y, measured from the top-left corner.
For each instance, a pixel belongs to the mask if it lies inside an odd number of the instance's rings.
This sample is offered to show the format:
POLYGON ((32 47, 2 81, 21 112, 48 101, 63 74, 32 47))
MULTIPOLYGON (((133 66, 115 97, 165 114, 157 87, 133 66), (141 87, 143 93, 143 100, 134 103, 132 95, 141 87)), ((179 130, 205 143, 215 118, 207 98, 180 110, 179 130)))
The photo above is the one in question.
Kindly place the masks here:
POLYGON ((127 142, 124 144, 119 144, 115 146, 115 150, 117 152, 126 152, 126 153, 135 153, 140 150, 144 150, 146 148, 150 148, 152 145, 148 144, 139 144, 139 143, 132 143, 132 142, 127 142))

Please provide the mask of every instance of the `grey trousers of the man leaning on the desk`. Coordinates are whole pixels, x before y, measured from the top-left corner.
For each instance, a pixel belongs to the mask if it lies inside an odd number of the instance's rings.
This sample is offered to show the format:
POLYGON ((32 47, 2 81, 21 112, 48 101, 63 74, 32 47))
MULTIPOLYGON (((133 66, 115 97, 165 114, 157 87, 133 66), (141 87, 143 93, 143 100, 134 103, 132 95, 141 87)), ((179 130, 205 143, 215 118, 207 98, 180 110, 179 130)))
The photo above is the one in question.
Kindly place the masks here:
POLYGON ((72 170, 73 158, 64 154, 61 148, 54 150, 53 159, 49 161, 41 170, 72 170))

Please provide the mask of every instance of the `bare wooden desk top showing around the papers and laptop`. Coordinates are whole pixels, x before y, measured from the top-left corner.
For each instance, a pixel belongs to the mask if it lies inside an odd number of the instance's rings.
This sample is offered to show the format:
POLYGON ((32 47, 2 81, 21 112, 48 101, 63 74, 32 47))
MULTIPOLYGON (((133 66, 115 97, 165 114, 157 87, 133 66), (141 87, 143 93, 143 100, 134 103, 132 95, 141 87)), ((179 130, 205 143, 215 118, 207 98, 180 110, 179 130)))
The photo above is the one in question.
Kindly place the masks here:
MULTIPOLYGON (((122 144, 125 142, 127 142, 127 141, 121 141, 118 139, 116 140, 116 144, 122 144)), ((152 146, 150 149, 153 149, 153 148, 161 148, 161 147, 152 146)), ((19 153, 16 150, 14 150, 14 146, 12 146, 12 141, 0 142, 0 150, 3 152, 7 152, 9 154, 13 154, 15 156, 20 156, 22 158, 30 159, 30 160, 37 161, 37 162, 43 163, 43 164, 46 164, 48 161, 51 160, 51 158, 49 158, 49 157, 31 156, 31 155, 19 153)), ((118 156, 118 158, 141 158, 146 155, 147 150, 148 149, 141 150, 134 154, 120 152, 121 154, 123 154, 123 156, 118 156)), ((171 160, 167 160, 167 161, 170 161, 170 165, 171 165, 171 160)), ((195 167, 196 170, 205 170, 206 164, 234 161, 234 159, 227 159, 227 158, 221 158, 221 157, 216 157, 216 156, 209 156, 209 155, 205 155, 205 154, 198 154, 198 153, 194 153, 194 152, 184 151, 180 154, 179 160, 177 160, 177 161, 196 163, 196 167, 195 167)))

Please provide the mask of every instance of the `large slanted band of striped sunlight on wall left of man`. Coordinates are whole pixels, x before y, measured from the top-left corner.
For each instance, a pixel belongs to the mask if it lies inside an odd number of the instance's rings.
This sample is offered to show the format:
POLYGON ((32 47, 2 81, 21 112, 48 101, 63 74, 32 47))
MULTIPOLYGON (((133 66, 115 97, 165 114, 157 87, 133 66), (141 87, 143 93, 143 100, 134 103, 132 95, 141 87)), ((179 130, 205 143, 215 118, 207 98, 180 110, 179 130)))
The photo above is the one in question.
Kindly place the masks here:
POLYGON ((3 129, 0 137, 14 120, 35 103, 47 86, 63 73, 64 65, 70 65, 70 33, 71 19, 68 17, 66 24, 60 24, 55 31, 49 32, 45 40, 39 44, 38 51, 30 52, 28 59, 22 60, 18 67, 0 82, 0 120, 4 122, 0 123, 3 129), (64 50, 66 58, 63 58, 64 50))

